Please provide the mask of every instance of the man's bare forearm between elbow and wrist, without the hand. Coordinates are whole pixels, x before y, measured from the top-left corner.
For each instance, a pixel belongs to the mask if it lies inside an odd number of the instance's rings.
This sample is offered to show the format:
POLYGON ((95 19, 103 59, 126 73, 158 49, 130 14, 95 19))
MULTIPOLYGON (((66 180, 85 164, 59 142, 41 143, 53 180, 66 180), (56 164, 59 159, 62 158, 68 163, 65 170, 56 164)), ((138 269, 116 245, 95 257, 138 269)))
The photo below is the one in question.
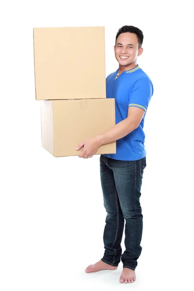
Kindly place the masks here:
POLYGON ((133 122, 129 118, 122 120, 117 123, 111 129, 105 131, 102 134, 97 135, 97 140, 99 142, 99 146, 114 142, 138 127, 137 123, 133 122))

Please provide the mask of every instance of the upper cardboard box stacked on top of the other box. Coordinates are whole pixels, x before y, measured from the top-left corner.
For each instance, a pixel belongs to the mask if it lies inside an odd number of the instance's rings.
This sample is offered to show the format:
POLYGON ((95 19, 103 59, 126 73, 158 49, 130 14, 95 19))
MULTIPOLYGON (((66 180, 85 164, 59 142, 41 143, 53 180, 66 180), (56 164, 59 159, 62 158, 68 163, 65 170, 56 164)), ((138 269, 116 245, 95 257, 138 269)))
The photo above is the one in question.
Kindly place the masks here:
POLYGON ((104 27, 34 28, 36 100, 106 98, 104 27))

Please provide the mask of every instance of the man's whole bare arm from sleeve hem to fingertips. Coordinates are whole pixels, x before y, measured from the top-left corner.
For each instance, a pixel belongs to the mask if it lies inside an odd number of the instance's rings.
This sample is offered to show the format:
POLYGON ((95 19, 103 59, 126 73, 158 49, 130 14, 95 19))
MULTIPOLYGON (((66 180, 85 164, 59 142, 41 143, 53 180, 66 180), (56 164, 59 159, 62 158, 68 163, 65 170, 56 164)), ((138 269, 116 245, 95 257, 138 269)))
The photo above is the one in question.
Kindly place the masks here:
POLYGON ((96 154, 99 146, 116 141, 127 134, 129 134, 134 129, 138 128, 145 111, 138 107, 129 107, 128 117, 121 122, 114 125, 111 129, 105 131, 104 133, 97 135, 94 138, 87 139, 82 142, 76 149, 79 150, 83 147, 80 158, 91 158, 96 154))

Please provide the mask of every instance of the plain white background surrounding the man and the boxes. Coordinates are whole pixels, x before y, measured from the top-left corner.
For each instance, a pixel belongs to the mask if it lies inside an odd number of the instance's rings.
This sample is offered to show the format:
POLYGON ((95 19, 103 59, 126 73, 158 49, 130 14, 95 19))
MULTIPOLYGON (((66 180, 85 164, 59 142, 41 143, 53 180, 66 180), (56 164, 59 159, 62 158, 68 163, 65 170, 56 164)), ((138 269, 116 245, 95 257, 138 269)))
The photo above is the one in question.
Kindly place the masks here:
POLYGON ((192 290, 191 2, 7 0, 1 4, 1 291, 192 290), (144 32, 138 64, 154 84, 145 122, 143 251, 137 280, 126 285, 119 283, 122 263, 116 271, 84 272, 104 252, 106 211, 99 156, 54 158, 41 146, 32 38, 33 27, 105 26, 107 76, 118 68, 113 46, 123 25, 144 32))

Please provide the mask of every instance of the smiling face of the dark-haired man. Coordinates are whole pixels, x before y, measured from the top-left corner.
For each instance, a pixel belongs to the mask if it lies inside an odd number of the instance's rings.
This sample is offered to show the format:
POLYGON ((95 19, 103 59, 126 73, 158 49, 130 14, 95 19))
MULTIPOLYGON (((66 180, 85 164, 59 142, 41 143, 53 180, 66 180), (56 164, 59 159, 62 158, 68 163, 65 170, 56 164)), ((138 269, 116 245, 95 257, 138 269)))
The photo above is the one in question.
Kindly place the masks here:
POLYGON ((120 65, 129 66, 135 62, 137 56, 141 55, 142 52, 143 49, 139 49, 138 38, 135 33, 124 32, 118 36, 114 53, 120 65))

